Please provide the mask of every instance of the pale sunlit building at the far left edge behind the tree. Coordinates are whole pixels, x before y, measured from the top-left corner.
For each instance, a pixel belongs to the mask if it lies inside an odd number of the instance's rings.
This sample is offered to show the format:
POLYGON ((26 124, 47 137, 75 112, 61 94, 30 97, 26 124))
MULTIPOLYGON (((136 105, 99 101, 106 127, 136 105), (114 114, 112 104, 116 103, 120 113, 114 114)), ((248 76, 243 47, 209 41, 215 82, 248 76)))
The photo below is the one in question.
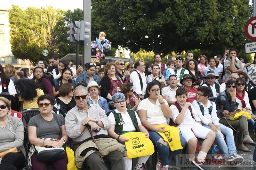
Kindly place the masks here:
POLYGON ((29 70, 32 66, 29 60, 15 59, 12 54, 8 13, 8 9, 0 9, 0 64, 3 67, 12 64, 16 70, 29 70))

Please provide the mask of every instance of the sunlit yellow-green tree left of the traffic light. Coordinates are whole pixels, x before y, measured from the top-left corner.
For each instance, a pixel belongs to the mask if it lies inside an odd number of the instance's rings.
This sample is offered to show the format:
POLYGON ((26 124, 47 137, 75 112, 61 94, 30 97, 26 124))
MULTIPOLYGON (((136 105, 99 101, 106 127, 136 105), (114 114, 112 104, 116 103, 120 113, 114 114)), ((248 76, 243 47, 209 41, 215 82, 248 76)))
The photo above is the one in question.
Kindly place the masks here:
POLYGON ((52 7, 26 10, 12 5, 9 11, 11 27, 12 53, 15 58, 29 59, 35 63, 38 59, 46 60, 44 49, 53 52, 58 48, 56 24, 62 18, 63 11, 52 7))

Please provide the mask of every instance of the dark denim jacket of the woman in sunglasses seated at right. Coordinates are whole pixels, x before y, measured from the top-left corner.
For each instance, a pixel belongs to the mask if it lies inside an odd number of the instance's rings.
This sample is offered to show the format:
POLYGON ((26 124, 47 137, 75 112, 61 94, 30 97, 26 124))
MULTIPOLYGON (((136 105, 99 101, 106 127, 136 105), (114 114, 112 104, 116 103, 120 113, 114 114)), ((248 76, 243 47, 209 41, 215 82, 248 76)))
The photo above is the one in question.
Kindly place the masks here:
POLYGON ((228 94, 227 90, 225 90, 224 92, 221 92, 216 100, 215 100, 215 104, 216 104, 216 109, 217 109, 217 116, 219 118, 222 118, 222 105, 223 105, 223 110, 228 110, 229 112, 233 112, 237 109, 238 107, 238 103, 236 101, 232 101, 230 95, 228 94))

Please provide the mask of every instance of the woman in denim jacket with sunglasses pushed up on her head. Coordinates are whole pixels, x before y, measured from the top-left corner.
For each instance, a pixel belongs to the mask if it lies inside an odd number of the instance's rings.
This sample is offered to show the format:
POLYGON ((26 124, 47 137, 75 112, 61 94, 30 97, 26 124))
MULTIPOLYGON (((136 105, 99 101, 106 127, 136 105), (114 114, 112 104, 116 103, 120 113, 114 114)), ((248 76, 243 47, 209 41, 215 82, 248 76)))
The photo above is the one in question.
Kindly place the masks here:
POLYGON ((86 63, 84 66, 86 71, 76 77, 76 85, 81 81, 85 81, 87 85, 89 85, 91 81, 96 81, 97 84, 100 84, 100 77, 94 74, 96 70, 96 63, 86 63))

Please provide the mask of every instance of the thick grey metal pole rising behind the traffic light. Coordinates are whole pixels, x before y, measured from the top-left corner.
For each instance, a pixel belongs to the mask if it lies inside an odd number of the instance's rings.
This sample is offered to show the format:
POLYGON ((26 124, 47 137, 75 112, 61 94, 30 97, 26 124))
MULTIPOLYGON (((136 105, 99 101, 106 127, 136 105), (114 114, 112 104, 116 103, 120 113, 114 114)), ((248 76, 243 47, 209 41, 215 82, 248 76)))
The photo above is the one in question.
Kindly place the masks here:
MULTIPOLYGON (((84 0, 84 21, 91 23, 91 0, 84 0)), ((87 27, 91 30, 91 25, 87 27)), ((87 33, 90 35, 89 39, 83 41, 83 62, 91 62, 91 31, 87 33)), ((83 63, 83 65, 84 65, 83 63)))

